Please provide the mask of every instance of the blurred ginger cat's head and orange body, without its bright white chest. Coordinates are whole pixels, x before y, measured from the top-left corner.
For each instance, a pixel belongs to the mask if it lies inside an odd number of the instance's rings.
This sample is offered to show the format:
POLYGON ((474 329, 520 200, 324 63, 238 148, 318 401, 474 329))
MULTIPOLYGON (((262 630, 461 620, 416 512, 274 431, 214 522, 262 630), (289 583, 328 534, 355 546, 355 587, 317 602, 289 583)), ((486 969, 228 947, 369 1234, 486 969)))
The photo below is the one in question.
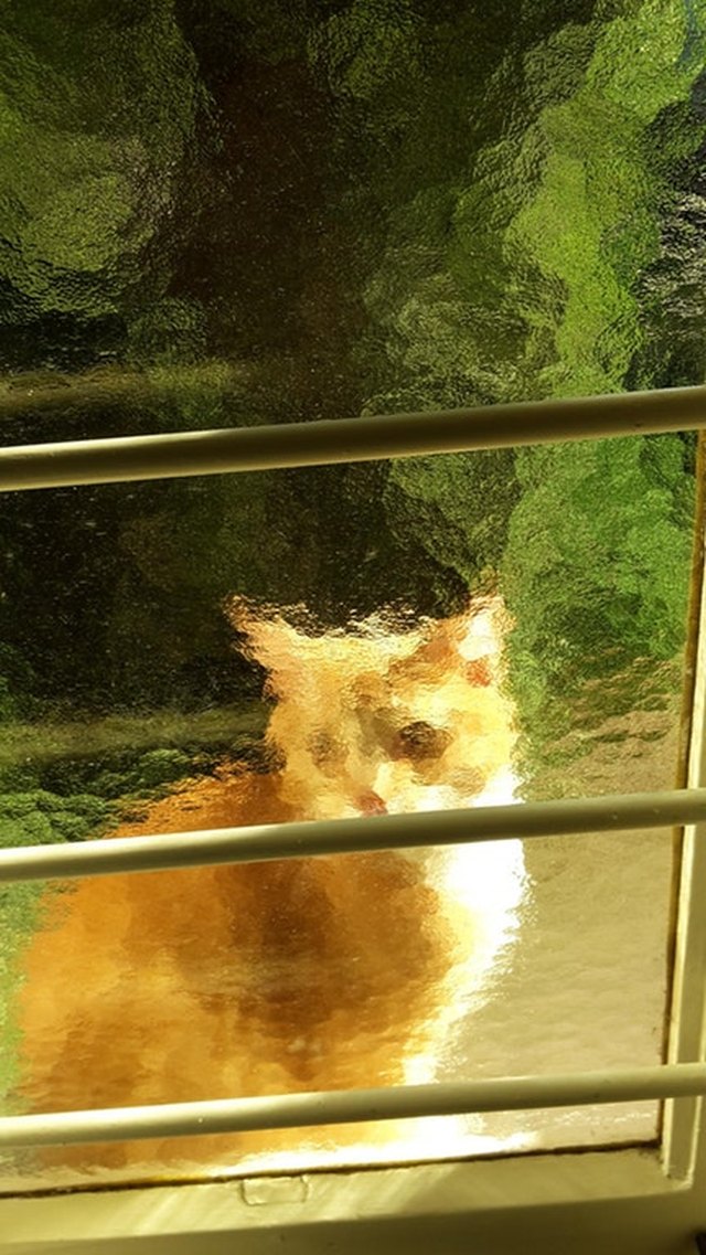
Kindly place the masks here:
MULTIPOLYGON (((410 630, 377 615, 317 631, 302 610, 240 599, 227 612, 267 669, 271 769, 224 763, 110 836, 473 804, 507 776, 499 599, 410 630)), ((440 860, 301 857, 90 877, 48 894, 23 958, 24 1108, 431 1079, 451 991, 459 973, 470 979, 482 940, 445 895, 440 860)), ((377 1124, 370 1137, 387 1133, 377 1124)), ((223 1166, 361 1136, 355 1126, 204 1135, 53 1150, 43 1162, 223 1166)))

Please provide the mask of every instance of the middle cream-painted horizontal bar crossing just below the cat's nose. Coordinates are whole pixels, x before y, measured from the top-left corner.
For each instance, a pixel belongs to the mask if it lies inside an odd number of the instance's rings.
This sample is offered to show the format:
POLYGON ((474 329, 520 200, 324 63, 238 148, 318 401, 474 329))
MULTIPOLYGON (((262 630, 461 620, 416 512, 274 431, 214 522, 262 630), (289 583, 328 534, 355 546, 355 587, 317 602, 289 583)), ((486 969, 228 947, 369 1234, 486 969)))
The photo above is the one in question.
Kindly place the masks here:
POLYGON ((517 837, 576 836, 706 821, 706 789, 608 793, 593 798, 421 811, 370 818, 208 828, 63 846, 0 850, 0 882, 108 876, 213 863, 411 850, 517 837))

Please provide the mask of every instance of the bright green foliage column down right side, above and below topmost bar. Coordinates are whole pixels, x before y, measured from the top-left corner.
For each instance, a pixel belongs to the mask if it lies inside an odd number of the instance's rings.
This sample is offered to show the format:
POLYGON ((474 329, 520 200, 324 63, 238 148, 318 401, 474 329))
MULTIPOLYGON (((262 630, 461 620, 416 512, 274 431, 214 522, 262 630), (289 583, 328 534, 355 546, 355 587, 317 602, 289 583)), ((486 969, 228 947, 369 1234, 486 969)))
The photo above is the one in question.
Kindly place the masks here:
MULTIPOLYGON (((542 306, 554 344, 538 376, 544 395, 619 390, 633 363, 647 360, 640 276, 660 250, 670 161, 673 168, 683 159, 703 129, 692 115, 686 124, 680 105, 706 33, 703 6, 692 16, 687 31, 681 4, 650 0, 607 23, 578 90, 538 118, 542 177, 508 241, 563 291, 542 306), (656 156, 651 128, 677 107, 681 125, 662 132, 673 146, 656 156)), ((653 387, 653 375, 643 373, 641 384, 653 387)), ((522 498, 503 586, 517 620, 510 666, 525 766, 552 757, 579 719, 599 720, 582 707, 592 680, 681 650, 693 518, 687 471, 677 437, 518 454, 522 498)))

